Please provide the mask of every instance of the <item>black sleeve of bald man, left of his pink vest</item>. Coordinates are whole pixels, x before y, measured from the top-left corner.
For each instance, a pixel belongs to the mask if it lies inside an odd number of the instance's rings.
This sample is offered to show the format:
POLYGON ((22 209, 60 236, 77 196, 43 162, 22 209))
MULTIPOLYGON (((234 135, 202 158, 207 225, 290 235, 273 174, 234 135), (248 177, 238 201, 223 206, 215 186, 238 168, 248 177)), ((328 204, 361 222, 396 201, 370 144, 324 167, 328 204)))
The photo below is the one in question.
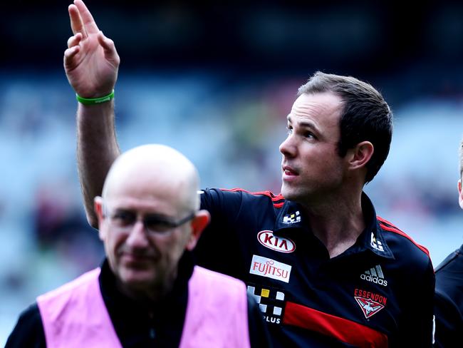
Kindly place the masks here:
POLYGON ((5 348, 46 348, 45 332, 36 303, 19 316, 5 348))

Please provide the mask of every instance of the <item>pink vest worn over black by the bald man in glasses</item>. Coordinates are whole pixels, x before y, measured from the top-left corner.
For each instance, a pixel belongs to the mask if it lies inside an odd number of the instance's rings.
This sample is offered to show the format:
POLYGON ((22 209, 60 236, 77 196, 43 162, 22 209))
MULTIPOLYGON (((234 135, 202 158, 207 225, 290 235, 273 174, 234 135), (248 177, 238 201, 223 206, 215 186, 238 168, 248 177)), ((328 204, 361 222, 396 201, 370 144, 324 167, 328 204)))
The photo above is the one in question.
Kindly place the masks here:
MULTIPOLYGON (((122 347, 103 302, 99 275, 97 268, 37 297, 47 348, 122 347)), ((243 282, 194 267, 180 347, 250 347, 243 282)))

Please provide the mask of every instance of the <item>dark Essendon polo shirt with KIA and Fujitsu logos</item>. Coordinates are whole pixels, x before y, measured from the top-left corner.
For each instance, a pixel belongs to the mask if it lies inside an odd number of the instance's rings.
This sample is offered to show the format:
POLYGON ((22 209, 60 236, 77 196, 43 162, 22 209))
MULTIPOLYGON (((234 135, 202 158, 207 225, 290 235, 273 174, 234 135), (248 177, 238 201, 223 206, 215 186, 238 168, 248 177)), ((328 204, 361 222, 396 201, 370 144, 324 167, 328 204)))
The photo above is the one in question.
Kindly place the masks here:
POLYGON ((212 220, 194 250, 198 264, 246 283, 274 347, 351 347, 286 324, 288 302, 326 314, 335 329, 342 324, 333 318, 360 324, 365 334, 374 330, 389 347, 431 347, 435 278, 429 253, 377 217, 367 195, 365 230, 333 258, 302 208, 281 195, 207 189, 201 200, 212 220))

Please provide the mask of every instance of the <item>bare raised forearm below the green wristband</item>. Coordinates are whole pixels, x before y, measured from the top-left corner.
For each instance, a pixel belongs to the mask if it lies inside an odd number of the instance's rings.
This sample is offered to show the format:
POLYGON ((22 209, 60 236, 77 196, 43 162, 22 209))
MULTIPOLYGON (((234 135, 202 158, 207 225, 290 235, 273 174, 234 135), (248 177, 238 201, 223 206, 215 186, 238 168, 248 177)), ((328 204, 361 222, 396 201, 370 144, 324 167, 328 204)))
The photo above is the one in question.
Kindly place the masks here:
POLYGON ((115 135, 114 101, 77 109, 77 160, 85 213, 90 225, 98 227, 93 198, 101 195, 105 176, 120 153, 115 135))

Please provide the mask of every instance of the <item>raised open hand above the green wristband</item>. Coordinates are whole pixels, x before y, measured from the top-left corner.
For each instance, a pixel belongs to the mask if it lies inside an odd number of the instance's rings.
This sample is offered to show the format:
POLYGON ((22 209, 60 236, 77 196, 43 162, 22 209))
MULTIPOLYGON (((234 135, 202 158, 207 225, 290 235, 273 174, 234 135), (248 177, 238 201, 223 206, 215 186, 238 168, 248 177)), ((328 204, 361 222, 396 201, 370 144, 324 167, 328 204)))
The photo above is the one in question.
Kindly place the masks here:
POLYGON ((64 70, 83 98, 106 96, 118 78, 120 58, 114 42, 103 35, 82 0, 68 7, 73 36, 64 51, 64 70))

